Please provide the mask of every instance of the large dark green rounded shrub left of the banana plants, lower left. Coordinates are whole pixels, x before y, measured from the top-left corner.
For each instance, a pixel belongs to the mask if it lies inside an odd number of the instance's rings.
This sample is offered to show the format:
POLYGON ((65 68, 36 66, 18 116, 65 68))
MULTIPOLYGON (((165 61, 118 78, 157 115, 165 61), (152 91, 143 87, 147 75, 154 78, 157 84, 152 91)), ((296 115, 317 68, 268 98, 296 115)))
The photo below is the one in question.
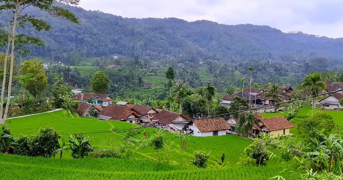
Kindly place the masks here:
POLYGON ((59 148, 58 139, 61 136, 54 128, 40 128, 37 135, 29 137, 29 156, 51 157, 52 152, 59 148))

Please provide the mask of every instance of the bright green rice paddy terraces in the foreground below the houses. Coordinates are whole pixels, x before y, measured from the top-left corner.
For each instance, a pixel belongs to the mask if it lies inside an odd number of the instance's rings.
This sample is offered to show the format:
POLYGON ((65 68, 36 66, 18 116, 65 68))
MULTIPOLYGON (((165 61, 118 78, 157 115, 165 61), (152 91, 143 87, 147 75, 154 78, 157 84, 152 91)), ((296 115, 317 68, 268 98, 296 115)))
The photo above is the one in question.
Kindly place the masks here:
MULTIPOLYGON (((85 118, 56 111, 42 115, 13 119, 10 124, 12 131, 37 132, 39 128, 54 127, 60 133, 95 132, 120 130, 137 127, 120 121, 100 121, 95 118, 85 118)), ((7 121, 8 123, 8 121, 7 121)), ((153 128, 137 130, 137 136, 143 131, 149 135, 153 128)), ((14 132, 14 136, 20 133, 14 132)), ((91 144, 99 147, 116 147, 123 142, 122 132, 106 132, 87 134, 92 137, 91 144)), ((62 135, 67 138, 68 135, 62 135)), ((0 154, 0 171, 4 179, 269 179, 281 175, 286 179, 295 177, 283 171, 286 164, 277 159, 270 160, 265 167, 247 167, 236 165, 239 157, 251 140, 235 135, 215 137, 191 137, 195 143, 188 142, 187 150, 181 150, 179 139, 173 139, 173 134, 166 133, 170 145, 169 151, 156 154, 151 147, 140 150, 130 159, 72 159, 66 152, 62 159, 21 157, 0 154), (211 151, 208 168, 199 169, 190 163, 194 150, 211 151), (227 167, 218 166, 222 153, 226 154, 227 167), (283 171, 283 172, 282 172, 283 171)), ((69 153, 70 154, 70 153, 69 153)))

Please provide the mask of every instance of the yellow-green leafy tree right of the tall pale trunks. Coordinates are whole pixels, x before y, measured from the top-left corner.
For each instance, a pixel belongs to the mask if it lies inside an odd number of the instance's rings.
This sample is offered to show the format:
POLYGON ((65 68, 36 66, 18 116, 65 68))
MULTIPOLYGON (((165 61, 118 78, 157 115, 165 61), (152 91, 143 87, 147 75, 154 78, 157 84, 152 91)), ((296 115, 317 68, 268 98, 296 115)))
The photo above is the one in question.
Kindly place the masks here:
POLYGON ((23 80, 23 76, 30 76, 30 78, 25 78, 25 81, 21 81, 21 83, 22 86, 34 97, 41 94, 48 85, 48 78, 45 75, 45 69, 42 65, 42 61, 39 61, 37 58, 34 60, 24 61, 20 72, 22 73, 21 79, 23 80))

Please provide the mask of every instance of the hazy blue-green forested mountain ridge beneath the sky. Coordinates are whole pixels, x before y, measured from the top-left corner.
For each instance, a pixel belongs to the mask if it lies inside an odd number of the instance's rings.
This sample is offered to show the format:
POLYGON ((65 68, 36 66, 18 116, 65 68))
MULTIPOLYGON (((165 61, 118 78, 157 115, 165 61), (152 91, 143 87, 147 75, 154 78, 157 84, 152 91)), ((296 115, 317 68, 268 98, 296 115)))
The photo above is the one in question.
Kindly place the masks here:
MULTIPOLYGON (((343 38, 331 39, 303 33, 288 34, 276 28, 257 25, 223 25, 210 21, 187 22, 176 18, 122 18, 98 11, 62 5, 80 18, 71 24, 58 18, 49 19, 52 29, 24 31, 43 39, 44 47, 32 47, 36 56, 59 58, 77 52, 82 57, 119 54, 151 56, 164 53, 199 58, 275 59, 279 57, 333 57, 342 59, 343 38)), ((3 23, 2 23, 3 24, 3 23)), ((21 31, 21 30, 19 30, 21 31)))

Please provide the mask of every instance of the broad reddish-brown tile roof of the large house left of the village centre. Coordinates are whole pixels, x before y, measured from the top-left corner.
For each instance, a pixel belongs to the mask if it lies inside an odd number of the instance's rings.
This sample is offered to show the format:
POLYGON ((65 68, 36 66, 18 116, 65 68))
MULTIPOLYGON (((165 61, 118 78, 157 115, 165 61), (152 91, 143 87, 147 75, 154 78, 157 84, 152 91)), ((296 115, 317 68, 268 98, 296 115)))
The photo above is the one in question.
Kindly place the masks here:
POLYGON ((126 120, 132 114, 135 115, 137 118, 142 116, 139 112, 132 109, 131 107, 113 104, 106 106, 102 111, 100 111, 99 114, 112 117, 111 120, 126 120))

